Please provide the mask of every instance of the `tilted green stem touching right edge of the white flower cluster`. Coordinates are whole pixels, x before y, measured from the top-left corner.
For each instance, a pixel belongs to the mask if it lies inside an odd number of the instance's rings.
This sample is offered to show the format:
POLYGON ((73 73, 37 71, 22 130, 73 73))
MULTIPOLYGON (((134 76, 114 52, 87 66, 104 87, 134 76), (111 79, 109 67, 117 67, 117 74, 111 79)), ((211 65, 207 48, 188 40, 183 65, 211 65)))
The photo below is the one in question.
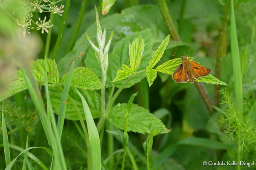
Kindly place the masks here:
POLYGON ((67 19, 67 13, 68 13, 69 6, 70 6, 70 0, 67 0, 66 5, 65 5, 65 9, 64 9, 64 13, 63 13, 63 17, 62 17, 62 20, 61 20, 61 26, 60 26, 59 32, 58 32, 57 41, 56 41, 56 44, 55 44, 55 48, 53 50, 52 59, 56 58, 57 53, 58 53, 58 49, 59 49, 60 44, 61 44, 61 38, 62 38, 63 31, 64 31, 64 26, 65 26, 65 22, 66 22, 66 19, 67 19))

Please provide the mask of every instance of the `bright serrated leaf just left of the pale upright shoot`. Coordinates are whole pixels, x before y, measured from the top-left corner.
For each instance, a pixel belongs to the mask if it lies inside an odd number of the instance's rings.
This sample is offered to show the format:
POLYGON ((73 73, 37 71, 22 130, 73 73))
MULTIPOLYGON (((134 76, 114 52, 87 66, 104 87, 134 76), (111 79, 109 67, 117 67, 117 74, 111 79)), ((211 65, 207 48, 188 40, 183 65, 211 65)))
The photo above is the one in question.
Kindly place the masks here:
MULTIPOLYGON (((64 75, 61 83, 64 84, 66 82, 67 74, 64 75)), ((102 89, 102 84, 96 74, 90 68, 85 67, 74 69, 71 86, 90 90, 102 89)))

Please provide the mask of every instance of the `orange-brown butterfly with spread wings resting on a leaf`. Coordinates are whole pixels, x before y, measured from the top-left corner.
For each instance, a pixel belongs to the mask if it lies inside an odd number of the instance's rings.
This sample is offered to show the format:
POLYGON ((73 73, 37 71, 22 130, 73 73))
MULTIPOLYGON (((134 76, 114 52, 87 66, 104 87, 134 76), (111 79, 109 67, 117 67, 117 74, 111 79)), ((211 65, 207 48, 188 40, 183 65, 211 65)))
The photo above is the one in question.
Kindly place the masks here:
MULTIPOLYGON (((189 51, 190 50, 191 48, 189 51)), ((194 83, 194 79, 204 77, 212 72, 209 68, 205 68, 196 62, 190 61, 186 56, 181 56, 182 64, 180 64, 172 74, 172 79, 175 82, 186 83, 189 80, 192 84, 194 83)))

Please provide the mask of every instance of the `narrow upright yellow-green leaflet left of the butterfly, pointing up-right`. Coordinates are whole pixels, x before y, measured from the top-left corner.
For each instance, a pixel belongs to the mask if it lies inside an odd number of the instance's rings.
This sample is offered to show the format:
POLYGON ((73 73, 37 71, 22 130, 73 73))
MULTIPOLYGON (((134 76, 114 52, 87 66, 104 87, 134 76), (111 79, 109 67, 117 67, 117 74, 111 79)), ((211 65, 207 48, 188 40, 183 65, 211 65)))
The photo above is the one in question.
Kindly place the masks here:
POLYGON ((169 43, 169 39, 170 39, 170 35, 168 35, 159 45, 159 47, 157 48, 157 50, 154 52, 153 57, 150 60, 149 66, 151 68, 153 68, 157 62, 159 62, 159 60, 161 59, 161 57, 163 56, 163 53, 166 49, 166 46, 169 43))

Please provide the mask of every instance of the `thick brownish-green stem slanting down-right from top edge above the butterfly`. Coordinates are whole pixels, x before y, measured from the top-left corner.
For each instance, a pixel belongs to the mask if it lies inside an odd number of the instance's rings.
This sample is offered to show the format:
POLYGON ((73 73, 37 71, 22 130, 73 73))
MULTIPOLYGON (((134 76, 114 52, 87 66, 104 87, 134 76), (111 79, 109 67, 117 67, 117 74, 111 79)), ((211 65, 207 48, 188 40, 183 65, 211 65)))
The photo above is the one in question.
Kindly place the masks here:
POLYGON ((163 19, 165 20, 167 29, 169 31, 169 34, 174 41, 180 41, 179 34, 177 34, 176 28, 174 26, 174 23, 172 21, 172 17, 169 14, 169 10, 166 4, 166 0, 157 0, 157 4, 160 8, 160 11, 163 15, 163 19))

